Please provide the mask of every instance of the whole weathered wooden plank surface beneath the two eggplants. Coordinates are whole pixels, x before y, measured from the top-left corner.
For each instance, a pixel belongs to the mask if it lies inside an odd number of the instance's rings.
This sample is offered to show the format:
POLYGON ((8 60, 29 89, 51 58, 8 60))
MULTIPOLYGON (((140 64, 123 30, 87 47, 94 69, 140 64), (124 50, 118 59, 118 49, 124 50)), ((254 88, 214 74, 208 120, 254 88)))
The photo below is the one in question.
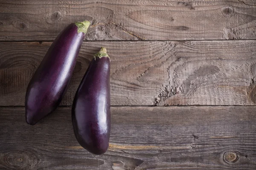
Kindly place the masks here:
POLYGON ((0 0, 0 170, 255 170, 256 1, 0 0), (25 121, 52 40, 90 20, 61 106, 25 121), (71 105, 93 54, 111 57, 111 139, 75 139, 71 105), (163 107, 169 106, 169 107, 163 107))

